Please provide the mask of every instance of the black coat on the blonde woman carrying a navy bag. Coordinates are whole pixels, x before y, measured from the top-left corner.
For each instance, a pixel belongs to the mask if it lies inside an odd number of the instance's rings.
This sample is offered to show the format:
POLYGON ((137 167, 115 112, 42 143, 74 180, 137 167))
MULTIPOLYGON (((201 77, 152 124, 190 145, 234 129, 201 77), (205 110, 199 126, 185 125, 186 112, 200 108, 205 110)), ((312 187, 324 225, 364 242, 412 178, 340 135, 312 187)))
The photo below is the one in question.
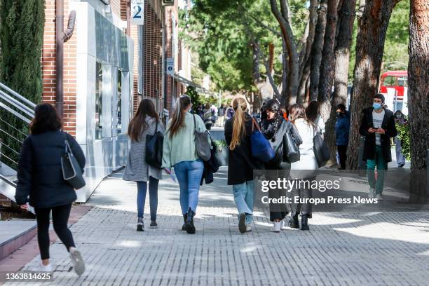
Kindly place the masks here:
MULTIPOLYGON (((225 141, 231 144, 234 117, 225 123, 225 141)), ((240 139, 240 145, 236 149, 229 150, 228 184, 243 184, 253 179, 253 170, 261 170, 264 166, 259 160, 252 157, 250 146, 250 135, 252 135, 252 118, 249 114, 245 117, 245 134, 240 139)))

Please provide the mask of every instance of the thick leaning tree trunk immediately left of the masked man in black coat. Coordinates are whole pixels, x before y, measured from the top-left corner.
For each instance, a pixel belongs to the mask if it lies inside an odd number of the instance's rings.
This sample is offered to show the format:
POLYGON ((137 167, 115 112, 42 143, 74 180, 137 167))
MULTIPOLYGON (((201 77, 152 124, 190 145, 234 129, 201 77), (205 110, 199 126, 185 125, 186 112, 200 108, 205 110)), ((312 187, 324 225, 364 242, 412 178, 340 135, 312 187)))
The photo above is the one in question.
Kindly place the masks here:
POLYGON ((357 169, 359 163, 359 124, 361 112, 372 104, 377 93, 384 40, 393 8, 400 0, 367 0, 358 20, 354 95, 351 104, 350 135, 347 150, 347 168, 357 169))

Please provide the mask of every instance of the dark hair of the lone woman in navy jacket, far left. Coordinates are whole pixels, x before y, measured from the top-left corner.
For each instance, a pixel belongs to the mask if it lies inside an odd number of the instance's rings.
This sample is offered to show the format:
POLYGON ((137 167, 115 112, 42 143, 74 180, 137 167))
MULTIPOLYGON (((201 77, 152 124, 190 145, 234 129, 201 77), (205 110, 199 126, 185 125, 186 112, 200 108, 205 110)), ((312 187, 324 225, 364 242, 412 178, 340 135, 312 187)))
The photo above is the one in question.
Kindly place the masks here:
POLYGON ((31 134, 41 134, 49 131, 58 131, 62 127, 57 109, 49 103, 39 103, 34 108, 34 119, 29 124, 31 134))

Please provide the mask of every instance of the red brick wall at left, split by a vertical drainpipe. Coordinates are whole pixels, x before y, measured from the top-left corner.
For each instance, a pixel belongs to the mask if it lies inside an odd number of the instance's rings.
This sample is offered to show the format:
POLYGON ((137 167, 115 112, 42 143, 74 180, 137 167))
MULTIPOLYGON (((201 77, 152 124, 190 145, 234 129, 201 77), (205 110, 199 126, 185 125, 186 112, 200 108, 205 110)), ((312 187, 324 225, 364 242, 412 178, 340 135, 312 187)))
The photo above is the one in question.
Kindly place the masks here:
MULTIPOLYGON (((64 27, 69 19, 69 0, 64 0, 64 27)), ((64 43, 64 130, 76 135, 76 35, 64 43)), ((45 2, 45 30, 43 34, 42 77, 43 102, 55 104, 55 0, 45 2)))

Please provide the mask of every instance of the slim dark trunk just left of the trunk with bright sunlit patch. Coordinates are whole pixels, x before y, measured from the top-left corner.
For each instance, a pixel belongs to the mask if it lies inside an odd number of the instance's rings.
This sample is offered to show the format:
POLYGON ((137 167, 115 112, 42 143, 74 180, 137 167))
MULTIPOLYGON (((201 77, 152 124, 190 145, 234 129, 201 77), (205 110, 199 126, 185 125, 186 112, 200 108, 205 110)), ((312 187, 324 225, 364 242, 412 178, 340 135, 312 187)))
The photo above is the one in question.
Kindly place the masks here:
POLYGON ((318 24, 315 28, 315 37, 311 49, 311 73, 310 73, 310 100, 318 99, 320 63, 322 62, 322 49, 325 37, 327 0, 320 1, 318 24))

